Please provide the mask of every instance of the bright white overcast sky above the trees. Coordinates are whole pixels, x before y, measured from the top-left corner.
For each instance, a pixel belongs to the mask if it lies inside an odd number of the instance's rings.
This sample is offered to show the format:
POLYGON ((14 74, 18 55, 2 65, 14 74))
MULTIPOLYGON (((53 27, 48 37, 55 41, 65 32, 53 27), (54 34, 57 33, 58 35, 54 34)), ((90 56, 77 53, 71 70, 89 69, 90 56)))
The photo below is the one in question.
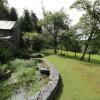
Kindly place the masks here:
POLYGON ((38 18, 42 18, 42 3, 47 11, 59 11, 64 7, 64 11, 69 14, 72 24, 78 22, 82 12, 69 7, 75 0, 8 0, 10 7, 17 8, 19 15, 22 15, 23 9, 33 10, 38 18))

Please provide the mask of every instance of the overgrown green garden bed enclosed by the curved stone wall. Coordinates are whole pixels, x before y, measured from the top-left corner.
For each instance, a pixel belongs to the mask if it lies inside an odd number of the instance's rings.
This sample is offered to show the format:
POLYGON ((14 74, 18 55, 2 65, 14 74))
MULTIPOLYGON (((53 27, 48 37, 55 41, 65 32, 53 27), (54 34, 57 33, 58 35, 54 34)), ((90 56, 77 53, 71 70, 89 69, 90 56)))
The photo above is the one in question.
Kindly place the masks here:
POLYGON ((13 73, 10 73, 9 78, 0 80, 0 100, 27 100, 47 84, 48 76, 40 74, 37 69, 39 63, 41 62, 34 59, 15 59, 3 65, 13 73))

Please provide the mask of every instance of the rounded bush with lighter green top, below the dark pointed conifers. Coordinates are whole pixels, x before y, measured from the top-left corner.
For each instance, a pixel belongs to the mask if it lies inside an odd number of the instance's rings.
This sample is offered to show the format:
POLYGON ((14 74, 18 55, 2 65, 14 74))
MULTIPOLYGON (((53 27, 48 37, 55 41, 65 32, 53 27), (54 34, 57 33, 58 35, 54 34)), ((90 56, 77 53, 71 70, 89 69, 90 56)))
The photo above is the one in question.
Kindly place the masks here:
POLYGON ((43 36, 39 33, 24 33, 23 39, 26 47, 31 48, 34 52, 40 52, 43 48, 43 36))

